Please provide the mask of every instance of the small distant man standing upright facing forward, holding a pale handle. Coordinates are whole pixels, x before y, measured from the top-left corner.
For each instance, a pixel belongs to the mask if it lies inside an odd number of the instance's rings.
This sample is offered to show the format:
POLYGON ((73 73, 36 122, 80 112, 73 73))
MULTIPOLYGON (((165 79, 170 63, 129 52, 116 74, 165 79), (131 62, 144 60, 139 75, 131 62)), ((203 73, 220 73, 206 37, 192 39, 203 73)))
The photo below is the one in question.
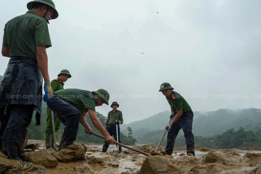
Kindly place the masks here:
MULTIPOLYGON (((112 102, 110 107, 113 108, 113 110, 109 111, 104 128, 108 131, 110 136, 113 135, 115 139, 117 139, 117 129, 118 129, 118 141, 119 143, 121 143, 121 137, 120 137, 121 132, 120 132, 119 124, 123 123, 122 111, 117 109, 119 107, 119 104, 117 102, 112 102)), ((102 152, 106 152, 108 147, 109 147, 109 143, 104 141, 102 152)), ((118 152, 119 153, 122 152, 122 146, 119 146, 118 152)))

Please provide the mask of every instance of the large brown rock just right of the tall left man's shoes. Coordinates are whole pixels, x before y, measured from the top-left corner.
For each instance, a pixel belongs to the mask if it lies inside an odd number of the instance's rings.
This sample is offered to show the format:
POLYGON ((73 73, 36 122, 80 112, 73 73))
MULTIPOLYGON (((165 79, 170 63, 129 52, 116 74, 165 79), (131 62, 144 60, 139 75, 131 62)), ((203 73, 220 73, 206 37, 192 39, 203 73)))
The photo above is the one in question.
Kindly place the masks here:
POLYGON ((44 149, 36 152, 25 153, 23 157, 25 161, 39 164, 44 167, 56 167, 58 165, 56 158, 47 153, 44 149))

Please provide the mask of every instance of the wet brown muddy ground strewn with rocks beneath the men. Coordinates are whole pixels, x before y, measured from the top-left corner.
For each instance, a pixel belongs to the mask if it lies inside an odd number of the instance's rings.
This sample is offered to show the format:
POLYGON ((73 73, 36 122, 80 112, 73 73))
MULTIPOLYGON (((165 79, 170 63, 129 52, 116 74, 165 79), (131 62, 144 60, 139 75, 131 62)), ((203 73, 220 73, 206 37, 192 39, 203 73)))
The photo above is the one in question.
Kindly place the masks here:
MULTIPOLYGON (((118 153, 116 145, 111 144, 106 153, 102 153, 102 144, 83 144, 78 150, 61 150, 47 153, 44 141, 28 140, 37 149, 26 149, 25 161, 34 163, 29 172, 23 172, 21 165, 8 160, 0 152, 0 173, 28 174, 81 174, 81 173, 261 173, 261 149, 210 149, 195 148, 195 157, 186 155, 186 148, 174 148, 172 156, 146 156, 135 151, 122 148, 118 153)), ((155 146, 129 146, 148 154, 154 152, 155 146)), ((163 149, 162 147, 160 150, 163 149)))

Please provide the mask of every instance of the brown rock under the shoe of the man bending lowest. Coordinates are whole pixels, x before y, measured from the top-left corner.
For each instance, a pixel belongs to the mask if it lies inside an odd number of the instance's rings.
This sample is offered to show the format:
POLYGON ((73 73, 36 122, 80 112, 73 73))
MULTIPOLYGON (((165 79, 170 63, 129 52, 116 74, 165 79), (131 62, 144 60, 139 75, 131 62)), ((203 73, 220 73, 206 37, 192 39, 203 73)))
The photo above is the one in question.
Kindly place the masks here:
POLYGON ((83 160, 85 153, 83 148, 77 149, 61 149, 59 152, 54 153, 53 156, 61 162, 69 162, 75 160, 83 160))

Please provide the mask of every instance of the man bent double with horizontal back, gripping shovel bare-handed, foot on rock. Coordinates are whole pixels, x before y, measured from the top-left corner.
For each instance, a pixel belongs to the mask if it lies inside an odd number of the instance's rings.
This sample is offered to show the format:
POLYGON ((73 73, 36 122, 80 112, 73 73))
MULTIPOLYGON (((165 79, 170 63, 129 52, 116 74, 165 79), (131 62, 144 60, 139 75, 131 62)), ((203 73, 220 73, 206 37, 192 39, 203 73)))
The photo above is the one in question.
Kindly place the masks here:
POLYGON ((94 126, 104 135, 105 141, 113 143, 113 137, 104 129, 97 118, 95 106, 109 104, 110 94, 107 90, 87 91, 82 89, 62 89, 53 93, 52 98, 46 102, 47 106, 57 114, 58 119, 64 124, 64 132, 61 137, 59 150, 63 148, 80 148, 75 143, 79 122, 85 127, 85 133, 92 134, 92 129, 86 121, 88 112, 94 126))

